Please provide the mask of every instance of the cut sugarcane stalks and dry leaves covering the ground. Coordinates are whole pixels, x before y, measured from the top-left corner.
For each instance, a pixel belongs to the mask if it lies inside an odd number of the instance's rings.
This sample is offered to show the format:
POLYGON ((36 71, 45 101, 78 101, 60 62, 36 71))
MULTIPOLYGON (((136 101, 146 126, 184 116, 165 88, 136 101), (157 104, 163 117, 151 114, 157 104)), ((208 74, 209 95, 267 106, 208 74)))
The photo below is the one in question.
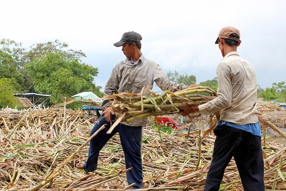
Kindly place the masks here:
MULTIPOLYGON (((175 104, 173 97, 172 101, 175 104)), ((194 102, 189 101, 189 103, 194 102)), ((267 110, 272 110, 274 107, 259 104, 257 108, 258 111, 260 109, 261 131, 275 129, 275 132, 282 136, 280 129, 285 122, 285 111, 277 111, 281 112, 281 115, 271 116, 270 113, 273 111, 267 110)), ((139 106, 141 111, 140 107, 141 105, 139 106)), ((174 120, 179 118, 178 112, 171 114, 166 112, 164 115, 172 115, 174 120)), ((154 123, 154 116, 150 115, 148 119, 149 124, 144 127, 142 136, 144 183, 143 188, 138 190, 203 190, 215 136, 211 131, 196 124, 209 123, 211 129, 216 124, 216 117, 199 116, 194 119, 184 117, 186 128, 193 128, 195 131, 172 130, 171 133, 162 130, 159 132, 156 125, 151 124, 154 123)), ((20 112, 3 110, 0 113, 0 188, 2 190, 131 189, 132 185, 128 185, 126 180, 126 172, 131 169, 125 169, 124 154, 117 134, 101 151, 96 171, 85 173, 75 167, 76 163, 84 162, 87 158, 92 126, 93 123, 82 110, 73 111, 65 108, 28 109, 20 112)), ((261 142, 266 190, 286 190, 285 144, 269 142, 265 134, 261 142)), ((234 160, 231 160, 225 170, 221 188, 243 190, 234 160)))

